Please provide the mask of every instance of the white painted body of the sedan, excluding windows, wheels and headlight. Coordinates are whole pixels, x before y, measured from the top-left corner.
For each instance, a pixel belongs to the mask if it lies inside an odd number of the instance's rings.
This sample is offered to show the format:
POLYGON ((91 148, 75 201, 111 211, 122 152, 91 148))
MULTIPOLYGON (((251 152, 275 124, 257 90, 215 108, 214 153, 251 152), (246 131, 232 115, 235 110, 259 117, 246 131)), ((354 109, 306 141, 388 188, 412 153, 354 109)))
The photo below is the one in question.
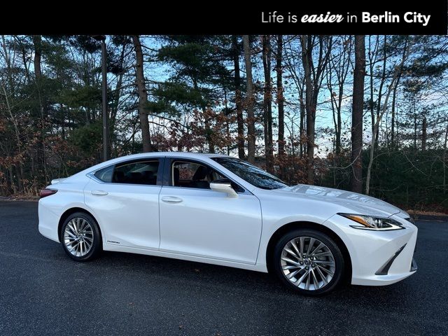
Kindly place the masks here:
MULTIPOLYGON (((274 233, 289 223, 312 223, 334 232, 349 253, 357 285, 386 285, 410 272, 417 229, 409 215, 373 197, 316 186, 264 190, 252 186, 212 160, 224 155, 143 153, 103 162, 48 188, 55 195, 39 201, 39 231, 59 242, 65 211, 90 212, 102 232, 106 251, 179 258, 267 272, 267 248, 274 233), (102 183, 91 173, 140 158, 188 158, 213 167, 246 192, 238 197, 196 188, 102 183), (352 228, 338 213, 391 217, 405 230, 352 228), (386 275, 375 272, 405 245, 386 275)), ((162 169, 162 168, 160 168, 162 169)))

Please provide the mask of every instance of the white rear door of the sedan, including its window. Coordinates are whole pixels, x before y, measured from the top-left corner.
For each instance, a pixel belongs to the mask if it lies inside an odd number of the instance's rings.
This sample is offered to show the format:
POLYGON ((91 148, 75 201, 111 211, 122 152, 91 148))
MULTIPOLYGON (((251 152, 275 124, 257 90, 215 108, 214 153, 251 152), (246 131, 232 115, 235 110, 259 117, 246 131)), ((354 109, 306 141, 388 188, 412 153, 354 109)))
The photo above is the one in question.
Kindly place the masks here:
POLYGON ((85 204, 94 211, 106 244, 158 249, 162 159, 121 162, 90 178, 85 204))

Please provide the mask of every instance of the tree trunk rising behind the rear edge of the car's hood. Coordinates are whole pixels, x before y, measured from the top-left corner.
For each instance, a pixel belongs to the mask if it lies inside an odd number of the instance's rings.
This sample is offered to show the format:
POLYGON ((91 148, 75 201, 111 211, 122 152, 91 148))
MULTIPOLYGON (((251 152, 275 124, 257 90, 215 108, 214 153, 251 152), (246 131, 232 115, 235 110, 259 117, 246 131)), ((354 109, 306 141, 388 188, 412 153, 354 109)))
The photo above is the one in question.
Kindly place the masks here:
MULTIPOLYGON (((313 104, 313 83, 311 80, 311 62, 313 43, 311 36, 300 36, 302 44, 302 64, 305 80, 305 109, 307 111, 307 182, 314 184, 314 127, 316 108, 313 104)), ((314 78, 315 79, 315 78, 314 78)))

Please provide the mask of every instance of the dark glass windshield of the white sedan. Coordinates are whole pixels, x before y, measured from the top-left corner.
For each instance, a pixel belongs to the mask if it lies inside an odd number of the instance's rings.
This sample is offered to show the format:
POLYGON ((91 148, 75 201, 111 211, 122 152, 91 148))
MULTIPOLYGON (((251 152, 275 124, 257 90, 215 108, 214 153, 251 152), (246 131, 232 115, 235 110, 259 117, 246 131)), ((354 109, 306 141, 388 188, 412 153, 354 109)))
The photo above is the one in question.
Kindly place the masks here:
POLYGON ((281 179, 243 160, 236 158, 212 159, 255 187, 262 189, 278 189, 288 186, 286 183, 281 181, 281 179))

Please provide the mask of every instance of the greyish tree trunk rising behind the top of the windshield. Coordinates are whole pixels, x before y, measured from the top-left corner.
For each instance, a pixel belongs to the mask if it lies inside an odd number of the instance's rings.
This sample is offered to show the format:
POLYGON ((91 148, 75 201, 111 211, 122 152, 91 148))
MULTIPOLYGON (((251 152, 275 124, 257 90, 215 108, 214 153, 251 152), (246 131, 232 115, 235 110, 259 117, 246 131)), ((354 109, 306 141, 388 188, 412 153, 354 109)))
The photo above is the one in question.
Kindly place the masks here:
POLYGON ((252 81, 252 62, 251 45, 249 36, 243 35, 244 61, 246 63, 246 106, 247 106, 247 160, 255 162, 255 113, 253 111, 253 81, 252 81))

